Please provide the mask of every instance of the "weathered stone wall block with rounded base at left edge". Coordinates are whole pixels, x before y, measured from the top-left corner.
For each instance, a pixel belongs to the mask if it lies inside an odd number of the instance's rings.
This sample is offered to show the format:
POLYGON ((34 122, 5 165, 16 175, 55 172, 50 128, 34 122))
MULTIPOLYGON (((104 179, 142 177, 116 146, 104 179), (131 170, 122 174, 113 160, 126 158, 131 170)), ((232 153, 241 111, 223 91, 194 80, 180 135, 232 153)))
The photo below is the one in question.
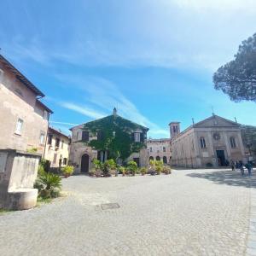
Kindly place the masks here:
POLYGON ((39 160, 40 154, 0 149, 0 207, 25 210, 36 205, 38 189, 33 184, 39 160))

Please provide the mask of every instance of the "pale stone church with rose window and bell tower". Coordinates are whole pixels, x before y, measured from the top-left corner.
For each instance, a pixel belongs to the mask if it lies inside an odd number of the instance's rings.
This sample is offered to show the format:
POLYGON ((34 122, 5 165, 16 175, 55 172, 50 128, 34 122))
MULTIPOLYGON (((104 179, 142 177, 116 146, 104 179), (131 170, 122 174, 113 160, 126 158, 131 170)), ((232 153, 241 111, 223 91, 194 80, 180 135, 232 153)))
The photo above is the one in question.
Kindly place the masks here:
POLYGON ((170 123, 172 165, 184 167, 225 166, 230 160, 246 160, 241 125, 212 114, 179 132, 170 123))

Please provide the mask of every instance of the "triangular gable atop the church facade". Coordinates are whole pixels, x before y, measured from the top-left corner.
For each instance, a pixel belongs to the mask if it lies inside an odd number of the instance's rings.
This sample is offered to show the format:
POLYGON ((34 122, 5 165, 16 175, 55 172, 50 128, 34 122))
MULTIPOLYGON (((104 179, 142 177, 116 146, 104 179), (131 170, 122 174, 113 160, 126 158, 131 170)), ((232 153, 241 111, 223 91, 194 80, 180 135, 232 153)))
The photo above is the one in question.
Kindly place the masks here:
POLYGON ((212 115, 208 119, 204 119, 194 125, 195 128, 210 128, 210 127, 240 127, 239 124, 229 119, 224 119, 218 115, 212 115))

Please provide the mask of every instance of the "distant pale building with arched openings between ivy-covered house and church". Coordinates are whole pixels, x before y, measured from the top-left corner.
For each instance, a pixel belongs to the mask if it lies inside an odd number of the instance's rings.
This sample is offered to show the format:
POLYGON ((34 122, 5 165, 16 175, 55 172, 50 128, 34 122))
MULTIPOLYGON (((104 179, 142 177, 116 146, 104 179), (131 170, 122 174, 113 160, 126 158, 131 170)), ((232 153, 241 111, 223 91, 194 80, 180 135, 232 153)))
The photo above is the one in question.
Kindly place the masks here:
POLYGON ((171 140, 169 138, 147 140, 149 160, 161 160, 164 164, 169 164, 172 157, 171 140))

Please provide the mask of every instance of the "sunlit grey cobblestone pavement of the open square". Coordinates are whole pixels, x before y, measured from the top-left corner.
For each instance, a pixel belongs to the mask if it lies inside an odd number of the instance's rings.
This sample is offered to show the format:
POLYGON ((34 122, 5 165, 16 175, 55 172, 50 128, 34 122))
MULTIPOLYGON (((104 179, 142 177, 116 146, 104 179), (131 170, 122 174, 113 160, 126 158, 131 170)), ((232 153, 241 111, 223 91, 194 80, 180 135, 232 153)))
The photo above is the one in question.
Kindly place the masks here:
POLYGON ((0 215, 0 255, 245 255, 250 181, 224 170, 69 177, 66 197, 0 215))

